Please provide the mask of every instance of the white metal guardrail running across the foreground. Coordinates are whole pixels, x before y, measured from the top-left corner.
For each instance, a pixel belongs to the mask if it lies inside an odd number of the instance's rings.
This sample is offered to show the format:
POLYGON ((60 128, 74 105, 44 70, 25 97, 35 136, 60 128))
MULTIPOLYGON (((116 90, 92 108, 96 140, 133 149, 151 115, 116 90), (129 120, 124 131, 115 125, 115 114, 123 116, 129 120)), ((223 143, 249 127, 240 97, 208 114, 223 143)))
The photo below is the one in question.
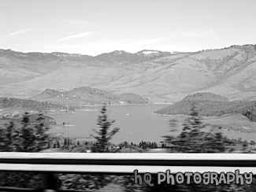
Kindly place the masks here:
MULTIPOLYGON (((0 153, 0 171, 46 173, 156 174, 177 172, 252 172, 254 153, 0 153)), ((2 190, 0 188, 0 190, 2 190)), ((7 190, 6 190, 7 191, 7 190)), ((10 190, 9 190, 10 191, 10 190)), ((24 191, 24 190, 12 190, 24 191)), ((64 191, 64 190, 59 190, 64 191)), ((67 191, 67 190, 65 190, 67 191)), ((72 190, 75 191, 75 190, 72 190)))

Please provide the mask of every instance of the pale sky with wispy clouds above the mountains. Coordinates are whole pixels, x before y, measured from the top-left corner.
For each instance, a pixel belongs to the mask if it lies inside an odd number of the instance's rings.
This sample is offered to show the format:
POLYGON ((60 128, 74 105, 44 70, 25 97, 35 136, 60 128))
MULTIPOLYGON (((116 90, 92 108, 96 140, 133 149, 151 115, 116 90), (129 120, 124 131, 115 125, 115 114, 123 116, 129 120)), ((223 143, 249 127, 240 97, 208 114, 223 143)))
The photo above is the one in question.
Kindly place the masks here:
POLYGON ((254 0, 0 0, 0 49, 95 56, 256 44, 254 0))

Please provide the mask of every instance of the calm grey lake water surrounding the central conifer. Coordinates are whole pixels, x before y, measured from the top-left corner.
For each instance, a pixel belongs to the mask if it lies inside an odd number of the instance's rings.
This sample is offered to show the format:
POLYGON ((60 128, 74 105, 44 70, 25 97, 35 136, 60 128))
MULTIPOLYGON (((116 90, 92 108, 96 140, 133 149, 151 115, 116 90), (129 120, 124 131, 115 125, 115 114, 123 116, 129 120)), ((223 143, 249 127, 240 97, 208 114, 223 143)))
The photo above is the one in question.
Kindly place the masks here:
MULTIPOLYGON (((107 106, 108 117, 116 120, 110 127, 120 127, 117 135, 111 139, 113 143, 134 142, 142 140, 146 142, 161 142, 161 136, 169 135, 170 127, 168 121, 170 116, 153 114, 154 111, 168 106, 167 104, 150 105, 109 105, 107 106)), ((65 137, 87 138, 93 128, 98 130, 97 119, 102 106, 94 106, 88 109, 91 111, 80 111, 78 113, 51 114, 58 121, 58 126, 50 130, 51 133, 61 133, 65 137), (62 126, 62 123, 69 123, 69 126, 62 126)), ((88 138, 94 141, 94 138, 88 138)))

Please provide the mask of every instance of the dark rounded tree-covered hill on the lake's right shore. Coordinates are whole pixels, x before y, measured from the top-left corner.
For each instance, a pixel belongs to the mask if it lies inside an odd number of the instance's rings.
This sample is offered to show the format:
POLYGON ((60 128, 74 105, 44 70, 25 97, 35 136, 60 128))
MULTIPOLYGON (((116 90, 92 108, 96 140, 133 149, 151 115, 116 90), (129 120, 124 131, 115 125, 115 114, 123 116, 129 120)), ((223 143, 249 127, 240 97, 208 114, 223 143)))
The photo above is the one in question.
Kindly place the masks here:
POLYGON ((242 114, 251 121, 256 121, 256 101, 251 102, 228 102, 227 98, 221 95, 203 93, 185 97, 182 101, 159 109, 155 113, 176 115, 189 115, 192 107, 201 116, 222 116, 228 113, 242 114))

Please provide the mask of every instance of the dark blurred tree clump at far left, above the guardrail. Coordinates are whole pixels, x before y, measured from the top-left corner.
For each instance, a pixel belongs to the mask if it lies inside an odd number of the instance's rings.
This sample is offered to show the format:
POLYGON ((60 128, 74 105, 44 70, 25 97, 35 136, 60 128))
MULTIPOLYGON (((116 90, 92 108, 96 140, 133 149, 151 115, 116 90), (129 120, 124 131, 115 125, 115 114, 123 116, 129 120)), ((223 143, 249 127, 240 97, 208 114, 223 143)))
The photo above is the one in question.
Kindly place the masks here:
POLYGON ((24 113, 20 122, 16 124, 10 120, 6 127, 0 128, 0 151, 38 152, 45 150, 50 141, 46 131, 50 126, 45 124, 43 114, 31 120, 29 113, 24 113))

